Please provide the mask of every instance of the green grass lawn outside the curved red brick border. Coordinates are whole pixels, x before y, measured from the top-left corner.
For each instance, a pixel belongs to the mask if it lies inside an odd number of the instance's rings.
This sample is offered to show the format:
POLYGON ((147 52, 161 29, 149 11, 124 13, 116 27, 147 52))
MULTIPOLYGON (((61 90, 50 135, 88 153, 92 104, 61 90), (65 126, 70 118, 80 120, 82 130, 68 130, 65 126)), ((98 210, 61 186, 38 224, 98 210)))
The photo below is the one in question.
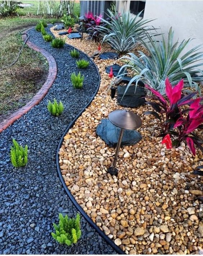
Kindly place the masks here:
MULTIPOLYGON (((19 32, 35 26, 40 19, 51 23, 61 22, 52 17, 37 17, 38 1, 22 1, 33 4, 18 10, 18 16, 0 19, 0 69, 11 64, 17 57, 23 41, 19 32)), ((59 5, 60 1, 56 1, 59 5)), ((80 12, 80 4, 75 4, 80 12)), ((25 46, 17 63, 0 71, 0 122, 15 109, 26 104, 40 89, 48 74, 46 59, 25 46)))

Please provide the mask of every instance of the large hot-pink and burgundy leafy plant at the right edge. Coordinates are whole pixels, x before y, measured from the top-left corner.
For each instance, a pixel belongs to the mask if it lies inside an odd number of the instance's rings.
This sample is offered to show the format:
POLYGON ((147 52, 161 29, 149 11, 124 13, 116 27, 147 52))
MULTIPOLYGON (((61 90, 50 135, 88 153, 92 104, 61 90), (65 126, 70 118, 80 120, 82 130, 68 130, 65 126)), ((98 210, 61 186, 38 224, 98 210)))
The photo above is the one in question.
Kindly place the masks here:
MULTIPOLYGON (((200 139, 193 132, 195 129, 202 128, 203 123, 203 105, 201 101, 203 98, 193 99, 195 94, 190 93, 188 95, 182 94, 184 87, 183 80, 177 85, 172 87, 168 78, 165 81, 166 84, 166 100, 158 91, 152 89, 148 85, 145 87, 151 91, 152 96, 149 98, 158 101, 157 102, 146 102, 151 105, 155 111, 147 111, 144 114, 153 114, 156 118, 161 121, 161 128, 163 136, 163 143, 166 143, 167 135, 172 137, 172 145, 179 146, 182 141, 186 141, 190 151, 195 156, 194 144, 203 151, 202 139, 200 139), (185 108, 189 105, 189 108, 185 108), (184 108, 182 108, 184 106, 184 108)), ((167 146, 167 144, 166 144, 167 146)), ((168 147, 170 145, 168 144, 168 147)))

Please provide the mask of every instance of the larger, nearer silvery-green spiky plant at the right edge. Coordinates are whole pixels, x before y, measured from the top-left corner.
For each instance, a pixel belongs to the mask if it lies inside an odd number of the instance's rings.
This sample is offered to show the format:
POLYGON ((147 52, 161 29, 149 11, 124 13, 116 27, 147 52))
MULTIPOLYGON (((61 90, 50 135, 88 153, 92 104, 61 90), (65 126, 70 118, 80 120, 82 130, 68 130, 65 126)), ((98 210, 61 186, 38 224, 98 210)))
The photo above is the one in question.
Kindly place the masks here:
POLYGON ((185 54, 182 54, 192 39, 182 40, 180 43, 178 41, 173 43, 173 34, 174 31, 171 27, 168 33, 168 39, 165 40, 162 35, 162 40, 157 41, 154 36, 146 33, 147 42, 143 39, 141 39, 141 42, 148 50, 149 55, 138 51, 138 56, 128 53, 128 55, 121 57, 127 64, 122 66, 118 75, 126 68, 130 68, 135 73, 127 89, 132 82, 136 81, 137 85, 141 81, 164 95, 165 80, 168 77, 173 86, 184 78, 185 87, 190 85, 191 88, 195 87, 200 92, 197 82, 203 81, 203 76, 195 76, 195 74, 199 72, 203 74, 197 68, 203 65, 202 62, 198 63, 203 57, 203 52, 199 52, 202 46, 198 45, 185 54))

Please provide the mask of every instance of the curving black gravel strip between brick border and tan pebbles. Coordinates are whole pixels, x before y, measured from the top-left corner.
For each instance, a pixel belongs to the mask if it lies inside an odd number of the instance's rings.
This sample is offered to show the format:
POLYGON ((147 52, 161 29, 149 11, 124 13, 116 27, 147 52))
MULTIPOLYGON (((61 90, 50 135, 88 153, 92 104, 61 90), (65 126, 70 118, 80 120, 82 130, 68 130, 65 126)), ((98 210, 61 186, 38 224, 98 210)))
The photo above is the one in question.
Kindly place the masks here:
POLYGON ((79 71, 69 55, 73 47, 54 49, 35 29, 28 33, 31 42, 53 55, 58 74, 45 98, 0 133, 0 254, 116 254, 83 217, 77 244, 59 245, 51 237, 59 212, 70 217, 77 213, 57 176, 57 146, 66 127, 94 95, 99 74, 94 63, 80 53, 90 65, 81 70, 84 88, 73 89, 70 76, 79 71), (64 104, 60 117, 51 116, 46 108, 54 98, 64 104), (10 162, 12 138, 28 145, 24 168, 14 168, 10 162))

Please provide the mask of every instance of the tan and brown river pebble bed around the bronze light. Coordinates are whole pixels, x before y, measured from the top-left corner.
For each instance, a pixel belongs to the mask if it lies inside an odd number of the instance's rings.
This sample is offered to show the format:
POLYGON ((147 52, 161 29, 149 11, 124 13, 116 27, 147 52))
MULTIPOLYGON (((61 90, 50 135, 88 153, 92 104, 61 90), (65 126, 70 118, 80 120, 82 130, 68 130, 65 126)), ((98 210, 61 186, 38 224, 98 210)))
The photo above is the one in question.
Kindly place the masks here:
MULTIPOLYGON (((89 56, 98 48, 90 40, 66 41, 87 49, 89 56)), ((102 46, 102 51, 108 50, 102 46)), ((151 108, 128 108, 143 121, 138 129, 143 139, 120 149, 126 166, 119 163, 117 177, 107 174, 104 166, 112 162, 115 149, 95 131, 102 118, 122 107, 111 99, 111 79, 105 73, 105 67, 117 61, 96 58, 95 63, 101 75, 98 94, 64 136, 59 151, 68 189, 96 225, 128 254, 198 253, 203 245, 202 204, 197 199, 203 195, 202 179, 191 172, 202 154, 198 151, 194 158, 185 143, 167 150, 157 137, 158 120, 143 116, 151 108)))

